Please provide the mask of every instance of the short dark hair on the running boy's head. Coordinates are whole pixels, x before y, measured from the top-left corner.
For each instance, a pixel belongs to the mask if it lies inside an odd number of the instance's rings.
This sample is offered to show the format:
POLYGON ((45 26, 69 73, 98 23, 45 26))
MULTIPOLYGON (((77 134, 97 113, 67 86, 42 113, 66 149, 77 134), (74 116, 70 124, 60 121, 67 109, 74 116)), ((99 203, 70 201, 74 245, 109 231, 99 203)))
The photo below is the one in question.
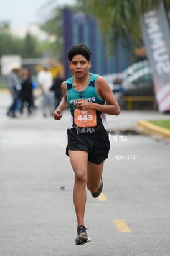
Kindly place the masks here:
POLYGON ((87 61, 90 61, 91 51, 85 44, 74 45, 67 51, 69 61, 72 61, 73 56, 78 54, 83 55, 87 61))

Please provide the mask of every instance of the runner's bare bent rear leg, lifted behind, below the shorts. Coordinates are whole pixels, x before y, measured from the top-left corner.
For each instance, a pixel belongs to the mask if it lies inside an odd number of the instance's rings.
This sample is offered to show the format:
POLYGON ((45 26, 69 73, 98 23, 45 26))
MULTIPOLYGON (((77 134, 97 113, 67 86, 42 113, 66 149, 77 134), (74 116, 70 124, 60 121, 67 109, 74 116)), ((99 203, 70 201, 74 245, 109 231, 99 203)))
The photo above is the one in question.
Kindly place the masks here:
POLYGON ((87 188, 91 193, 97 192, 98 188, 102 185, 102 171, 105 161, 102 161, 99 165, 88 161, 87 172, 87 188))

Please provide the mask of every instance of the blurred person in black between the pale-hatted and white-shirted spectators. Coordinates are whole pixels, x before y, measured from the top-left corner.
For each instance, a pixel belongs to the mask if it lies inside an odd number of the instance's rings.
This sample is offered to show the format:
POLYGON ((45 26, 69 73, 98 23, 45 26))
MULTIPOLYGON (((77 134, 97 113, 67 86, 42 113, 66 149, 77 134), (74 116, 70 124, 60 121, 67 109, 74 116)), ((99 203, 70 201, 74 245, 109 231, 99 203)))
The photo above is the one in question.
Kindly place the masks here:
POLYGON ((32 93, 32 79, 28 69, 22 69, 22 83, 21 83, 21 113, 23 113, 24 103, 27 103, 27 113, 31 115, 34 110, 34 101, 32 93))

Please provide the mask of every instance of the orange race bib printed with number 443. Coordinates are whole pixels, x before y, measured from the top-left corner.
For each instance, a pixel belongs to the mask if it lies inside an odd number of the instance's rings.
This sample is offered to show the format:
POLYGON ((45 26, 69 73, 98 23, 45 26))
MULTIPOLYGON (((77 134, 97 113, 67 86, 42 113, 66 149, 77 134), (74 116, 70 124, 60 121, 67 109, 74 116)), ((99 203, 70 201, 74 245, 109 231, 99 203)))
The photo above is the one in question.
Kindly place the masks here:
POLYGON ((94 127, 97 125, 96 111, 89 110, 74 110, 74 123, 77 127, 94 127))

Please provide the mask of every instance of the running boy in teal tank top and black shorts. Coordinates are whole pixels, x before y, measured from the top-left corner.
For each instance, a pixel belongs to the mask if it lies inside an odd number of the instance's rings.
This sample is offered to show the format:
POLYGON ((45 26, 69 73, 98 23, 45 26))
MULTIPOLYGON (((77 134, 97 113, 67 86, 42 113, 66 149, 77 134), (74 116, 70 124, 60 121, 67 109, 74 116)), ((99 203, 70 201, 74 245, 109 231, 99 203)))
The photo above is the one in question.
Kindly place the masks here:
POLYGON ((102 170, 108 158, 110 143, 106 132, 106 116, 119 115, 120 108, 102 76, 89 73, 91 52, 85 44, 72 46, 68 59, 73 77, 62 83, 63 98, 54 112, 60 120, 62 111, 70 108, 66 155, 75 173, 73 202, 77 217, 76 245, 89 241, 84 224, 86 187, 93 197, 102 192, 102 170))

